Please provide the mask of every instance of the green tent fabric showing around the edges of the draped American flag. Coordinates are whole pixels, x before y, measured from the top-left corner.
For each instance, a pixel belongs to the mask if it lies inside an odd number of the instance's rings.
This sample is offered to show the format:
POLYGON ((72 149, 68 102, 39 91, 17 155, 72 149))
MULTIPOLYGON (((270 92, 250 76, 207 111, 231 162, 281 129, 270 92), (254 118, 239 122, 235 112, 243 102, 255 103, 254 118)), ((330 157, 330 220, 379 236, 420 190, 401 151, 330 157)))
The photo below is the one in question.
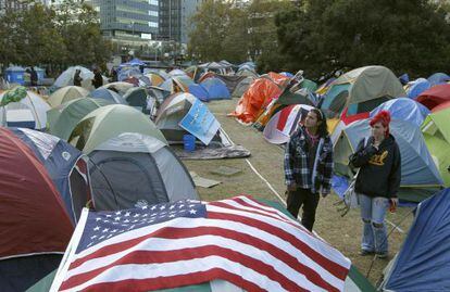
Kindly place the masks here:
MULTIPOLYGON (((264 199, 258 199, 258 201, 275 207, 293 219, 293 217, 287 212, 287 210, 279 203, 274 201, 268 201, 264 199)), ((26 292, 39 292, 39 291, 49 291, 53 278, 55 276, 55 270, 49 274, 46 278, 37 282, 35 285, 29 288, 26 292)), ((205 282, 202 284, 179 287, 175 289, 164 289, 158 290, 160 292, 243 292, 240 288, 224 281, 224 280, 214 280, 205 282)), ((346 279, 346 285, 343 291, 346 292, 375 292, 375 288, 368 282, 368 280, 352 265, 350 271, 346 279)))

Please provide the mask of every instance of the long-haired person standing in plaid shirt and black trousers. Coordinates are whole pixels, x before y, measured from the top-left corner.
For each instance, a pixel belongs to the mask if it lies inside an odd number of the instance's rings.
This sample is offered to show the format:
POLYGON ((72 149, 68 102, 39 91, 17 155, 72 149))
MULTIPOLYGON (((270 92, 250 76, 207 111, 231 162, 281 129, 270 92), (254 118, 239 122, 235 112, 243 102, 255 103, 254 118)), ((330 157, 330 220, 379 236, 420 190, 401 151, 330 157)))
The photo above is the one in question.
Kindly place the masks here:
POLYGON ((303 206, 301 224, 312 231, 320 194, 330 191, 333 143, 326 117, 318 109, 311 110, 304 125, 292 134, 285 151, 287 210, 297 218, 303 206))

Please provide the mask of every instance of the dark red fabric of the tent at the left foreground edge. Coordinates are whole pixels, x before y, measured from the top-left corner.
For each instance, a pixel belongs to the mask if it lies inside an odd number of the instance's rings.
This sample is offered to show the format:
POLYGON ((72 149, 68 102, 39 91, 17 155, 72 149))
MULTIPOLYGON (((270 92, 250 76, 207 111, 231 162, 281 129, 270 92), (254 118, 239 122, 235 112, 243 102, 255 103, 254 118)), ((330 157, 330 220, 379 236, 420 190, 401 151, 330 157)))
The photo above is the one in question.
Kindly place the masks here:
POLYGON ((5 128, 0 156, 0 258, 64 252, 74 227, 46 167, 5 128))

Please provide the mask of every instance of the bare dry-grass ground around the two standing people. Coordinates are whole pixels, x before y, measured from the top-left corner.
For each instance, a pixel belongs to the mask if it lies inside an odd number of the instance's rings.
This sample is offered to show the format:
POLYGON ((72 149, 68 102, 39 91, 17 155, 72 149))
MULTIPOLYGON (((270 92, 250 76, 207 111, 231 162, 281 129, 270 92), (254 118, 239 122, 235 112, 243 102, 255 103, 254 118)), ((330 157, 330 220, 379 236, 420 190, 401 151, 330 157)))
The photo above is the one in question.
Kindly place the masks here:
MULTIPOLYGON (((252 127, 242 126, 233 117, 227 117, 226 114, 235 109, 236 102, 236 99, 230 101, 215 101, 209 103, 208 106, 216 115, 222 127, 229 135, 232 140, 251 151, 251 156, 248 158, 248 162, 250 162, 257 172, 271 183, 282 198, 285 198, 284 193, 286 187, 284 185, 283 170, 284 150, 278 145, 266 142, 261 131, 258 131, 252 127)), ((279 201, 277 195, 271 191, 267 185, 250 168, 248 162, 243 158, 184 161, 189 170, 193 170, 202 177, 222 181, 221 185, 211 189, 198 189, 201 199, 204 201, 225 199, 241 193, 251 194, 255 198, 279 201), (239 168, 242 172, 229 177, 218 176, 211 173, 220 166, 239 168)), ((352 210, 345 217, 341 217, 335 205, 338 201, 338 196, 333 193, 325 199, 321 199, 314 230, 329 244, 349 257, 363 275, 366 275, 373 257, 363 257, 358 254, 360 251, 362 231, 359 210, 352 210)), ((399 226, 403 232, 400 232, 399 230, 391 232, 389 237, 390 256, 388 259, 375 259, 368 277, 372 283, 375 284, 378 281, 385 266, 399 251, 412 219, 411 208, 399 208, 397 213, 389 213, 387 215, 387 220, 393 225, 403 220, 399 226)), ((388 225, 388 232, 390 232, 392 226, 388 225)))

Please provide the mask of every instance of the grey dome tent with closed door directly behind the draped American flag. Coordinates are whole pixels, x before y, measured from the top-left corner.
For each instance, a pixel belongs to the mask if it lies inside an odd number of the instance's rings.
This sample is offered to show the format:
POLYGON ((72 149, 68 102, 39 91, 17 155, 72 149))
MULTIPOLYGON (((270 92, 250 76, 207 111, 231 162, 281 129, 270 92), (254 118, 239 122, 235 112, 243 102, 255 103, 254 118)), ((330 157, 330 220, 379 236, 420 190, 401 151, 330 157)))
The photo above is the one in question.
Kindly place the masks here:
POLYGON ((168 145, 136 132, 123 132, 89 154, 92 202, 98 211, 198 200, 193 181, 168 145))

